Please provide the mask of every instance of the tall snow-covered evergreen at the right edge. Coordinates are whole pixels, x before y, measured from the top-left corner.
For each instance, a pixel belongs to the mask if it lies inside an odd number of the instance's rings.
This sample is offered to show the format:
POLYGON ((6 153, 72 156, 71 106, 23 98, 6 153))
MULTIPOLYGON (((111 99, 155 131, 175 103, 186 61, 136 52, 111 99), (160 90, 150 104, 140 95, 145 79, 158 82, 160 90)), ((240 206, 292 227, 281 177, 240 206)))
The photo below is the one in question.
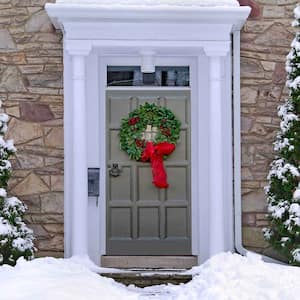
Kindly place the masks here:
MULTIPOLYGON (((293 26, 300 27, 300 6, 293 26)), ((266 187, 269 228, 264 236, 291 264, 300 266, 300 32, 287 56, 289 98, 279 107, 280 128, 274 143, 277 153, 266 187)))

